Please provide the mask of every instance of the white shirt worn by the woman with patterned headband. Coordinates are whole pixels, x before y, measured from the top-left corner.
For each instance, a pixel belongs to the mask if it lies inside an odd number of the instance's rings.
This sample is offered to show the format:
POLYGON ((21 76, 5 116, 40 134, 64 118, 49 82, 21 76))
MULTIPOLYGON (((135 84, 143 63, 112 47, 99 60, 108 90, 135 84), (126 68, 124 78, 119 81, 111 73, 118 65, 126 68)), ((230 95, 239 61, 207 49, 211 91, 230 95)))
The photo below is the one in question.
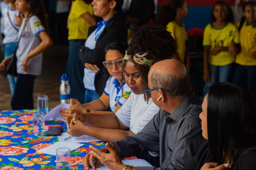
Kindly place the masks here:
POLYGON ((131 93, 129 99, 117 111, 116 116, 122 124, 130 127, 130 130, 137 134, 143 130, 159 110, 160 108, 155 105, 151 98, 147 104, 143 94, 136 95, 131 93))

